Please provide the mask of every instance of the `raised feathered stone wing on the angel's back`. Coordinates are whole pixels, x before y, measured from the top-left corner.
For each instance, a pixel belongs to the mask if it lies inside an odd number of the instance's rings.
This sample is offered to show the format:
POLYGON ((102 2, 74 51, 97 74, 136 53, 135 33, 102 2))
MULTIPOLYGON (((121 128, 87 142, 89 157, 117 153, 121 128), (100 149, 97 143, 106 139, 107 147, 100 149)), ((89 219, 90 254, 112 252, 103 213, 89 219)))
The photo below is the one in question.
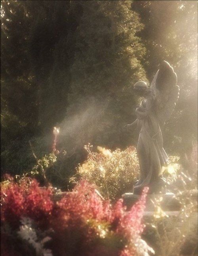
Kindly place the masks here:
POLYGON ((154 111, 162 125, 168 120, 179 98, 177 75, 167 61, 163 61, 160 69, 154 76, 150 89, 155 94, 154 111))

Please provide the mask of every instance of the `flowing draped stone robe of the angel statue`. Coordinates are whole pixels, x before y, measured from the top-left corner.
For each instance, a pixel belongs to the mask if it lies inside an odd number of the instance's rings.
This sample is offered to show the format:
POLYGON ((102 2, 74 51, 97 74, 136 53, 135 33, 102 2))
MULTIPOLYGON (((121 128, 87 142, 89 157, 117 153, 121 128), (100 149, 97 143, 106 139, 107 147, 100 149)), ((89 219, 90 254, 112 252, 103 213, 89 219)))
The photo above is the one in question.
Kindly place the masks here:
POLYGON ((139 194, 145 186, 149 186, 152 190, 150 192, 155 192, 156 184, 164 182, 163 167, 168 165, 168 156, 163 148, 162 132, 153 110, 153 104, 154 96, 150 93, 136 109, 139 130, 137 154, 140 165, 140 178, 133 187, 136 194, 139 194))

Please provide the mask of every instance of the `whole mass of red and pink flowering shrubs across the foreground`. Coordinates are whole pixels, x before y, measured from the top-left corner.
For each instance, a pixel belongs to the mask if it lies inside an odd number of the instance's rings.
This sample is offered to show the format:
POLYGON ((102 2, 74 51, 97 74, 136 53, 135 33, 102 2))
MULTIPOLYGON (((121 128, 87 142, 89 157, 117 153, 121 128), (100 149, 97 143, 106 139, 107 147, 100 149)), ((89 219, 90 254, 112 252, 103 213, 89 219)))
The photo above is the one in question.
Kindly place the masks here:
MULTIPOLYGON (((52 188, 41 188, 36 180, 31 180, 29 186, 12 181, 1 190, 1 223, 10 225, 15 238, 31 240, 37 250, 45 250, 43 241, 47 241, 51 255, 139 255, 139 247, 146 244, 141 240, 141 220, 147 192, 145 188, 139 201, 126 212, 122 199, 111 206, 109 201, 101 199, 95 186, 85 180, 58 201, 54 200, 52 188), (29 239, 32 232, 33 238, 29 239), (46 235, 39 244, 39 237, 46 235)), ((2 248, 8 255, 9 248, 18 255, 17 245, 13 249, 14 242, 5 239, 8 233, 4 231, 2 248)), ((145 247, 145 255, 150 249, 145 247)))

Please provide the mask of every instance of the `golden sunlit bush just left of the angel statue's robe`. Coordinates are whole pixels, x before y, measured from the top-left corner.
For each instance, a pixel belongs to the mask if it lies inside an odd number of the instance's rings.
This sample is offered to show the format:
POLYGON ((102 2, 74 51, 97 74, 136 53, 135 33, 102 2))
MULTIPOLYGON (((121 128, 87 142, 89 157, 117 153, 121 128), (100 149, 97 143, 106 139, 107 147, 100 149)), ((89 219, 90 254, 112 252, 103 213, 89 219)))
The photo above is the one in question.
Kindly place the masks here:
POLYGON ((98 147, 99 153, 92 151, 92 145, 85 146, 88 152, 87 160, 79 165, 76 178, 86 178, 95 183, 101 194, 114 201, 125 192, 132 192, 133 182, 139 177, 139 162, 135 147, 121 151, 98 147))

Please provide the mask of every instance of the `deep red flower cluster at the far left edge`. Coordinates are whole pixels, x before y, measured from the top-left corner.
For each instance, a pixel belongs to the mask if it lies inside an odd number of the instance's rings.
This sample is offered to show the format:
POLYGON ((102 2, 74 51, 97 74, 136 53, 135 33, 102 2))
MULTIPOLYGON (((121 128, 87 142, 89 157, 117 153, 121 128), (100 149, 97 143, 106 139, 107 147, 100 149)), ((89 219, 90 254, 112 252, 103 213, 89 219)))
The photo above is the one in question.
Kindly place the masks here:
POLYGON ((25 180, 21 184, 12 181, 1 190, 1 219, 14 226, 19 224, 22 216, 44 223, 53 208, 51 196, 51 188, 39 187, 34 179, 28 187, 25 180))

